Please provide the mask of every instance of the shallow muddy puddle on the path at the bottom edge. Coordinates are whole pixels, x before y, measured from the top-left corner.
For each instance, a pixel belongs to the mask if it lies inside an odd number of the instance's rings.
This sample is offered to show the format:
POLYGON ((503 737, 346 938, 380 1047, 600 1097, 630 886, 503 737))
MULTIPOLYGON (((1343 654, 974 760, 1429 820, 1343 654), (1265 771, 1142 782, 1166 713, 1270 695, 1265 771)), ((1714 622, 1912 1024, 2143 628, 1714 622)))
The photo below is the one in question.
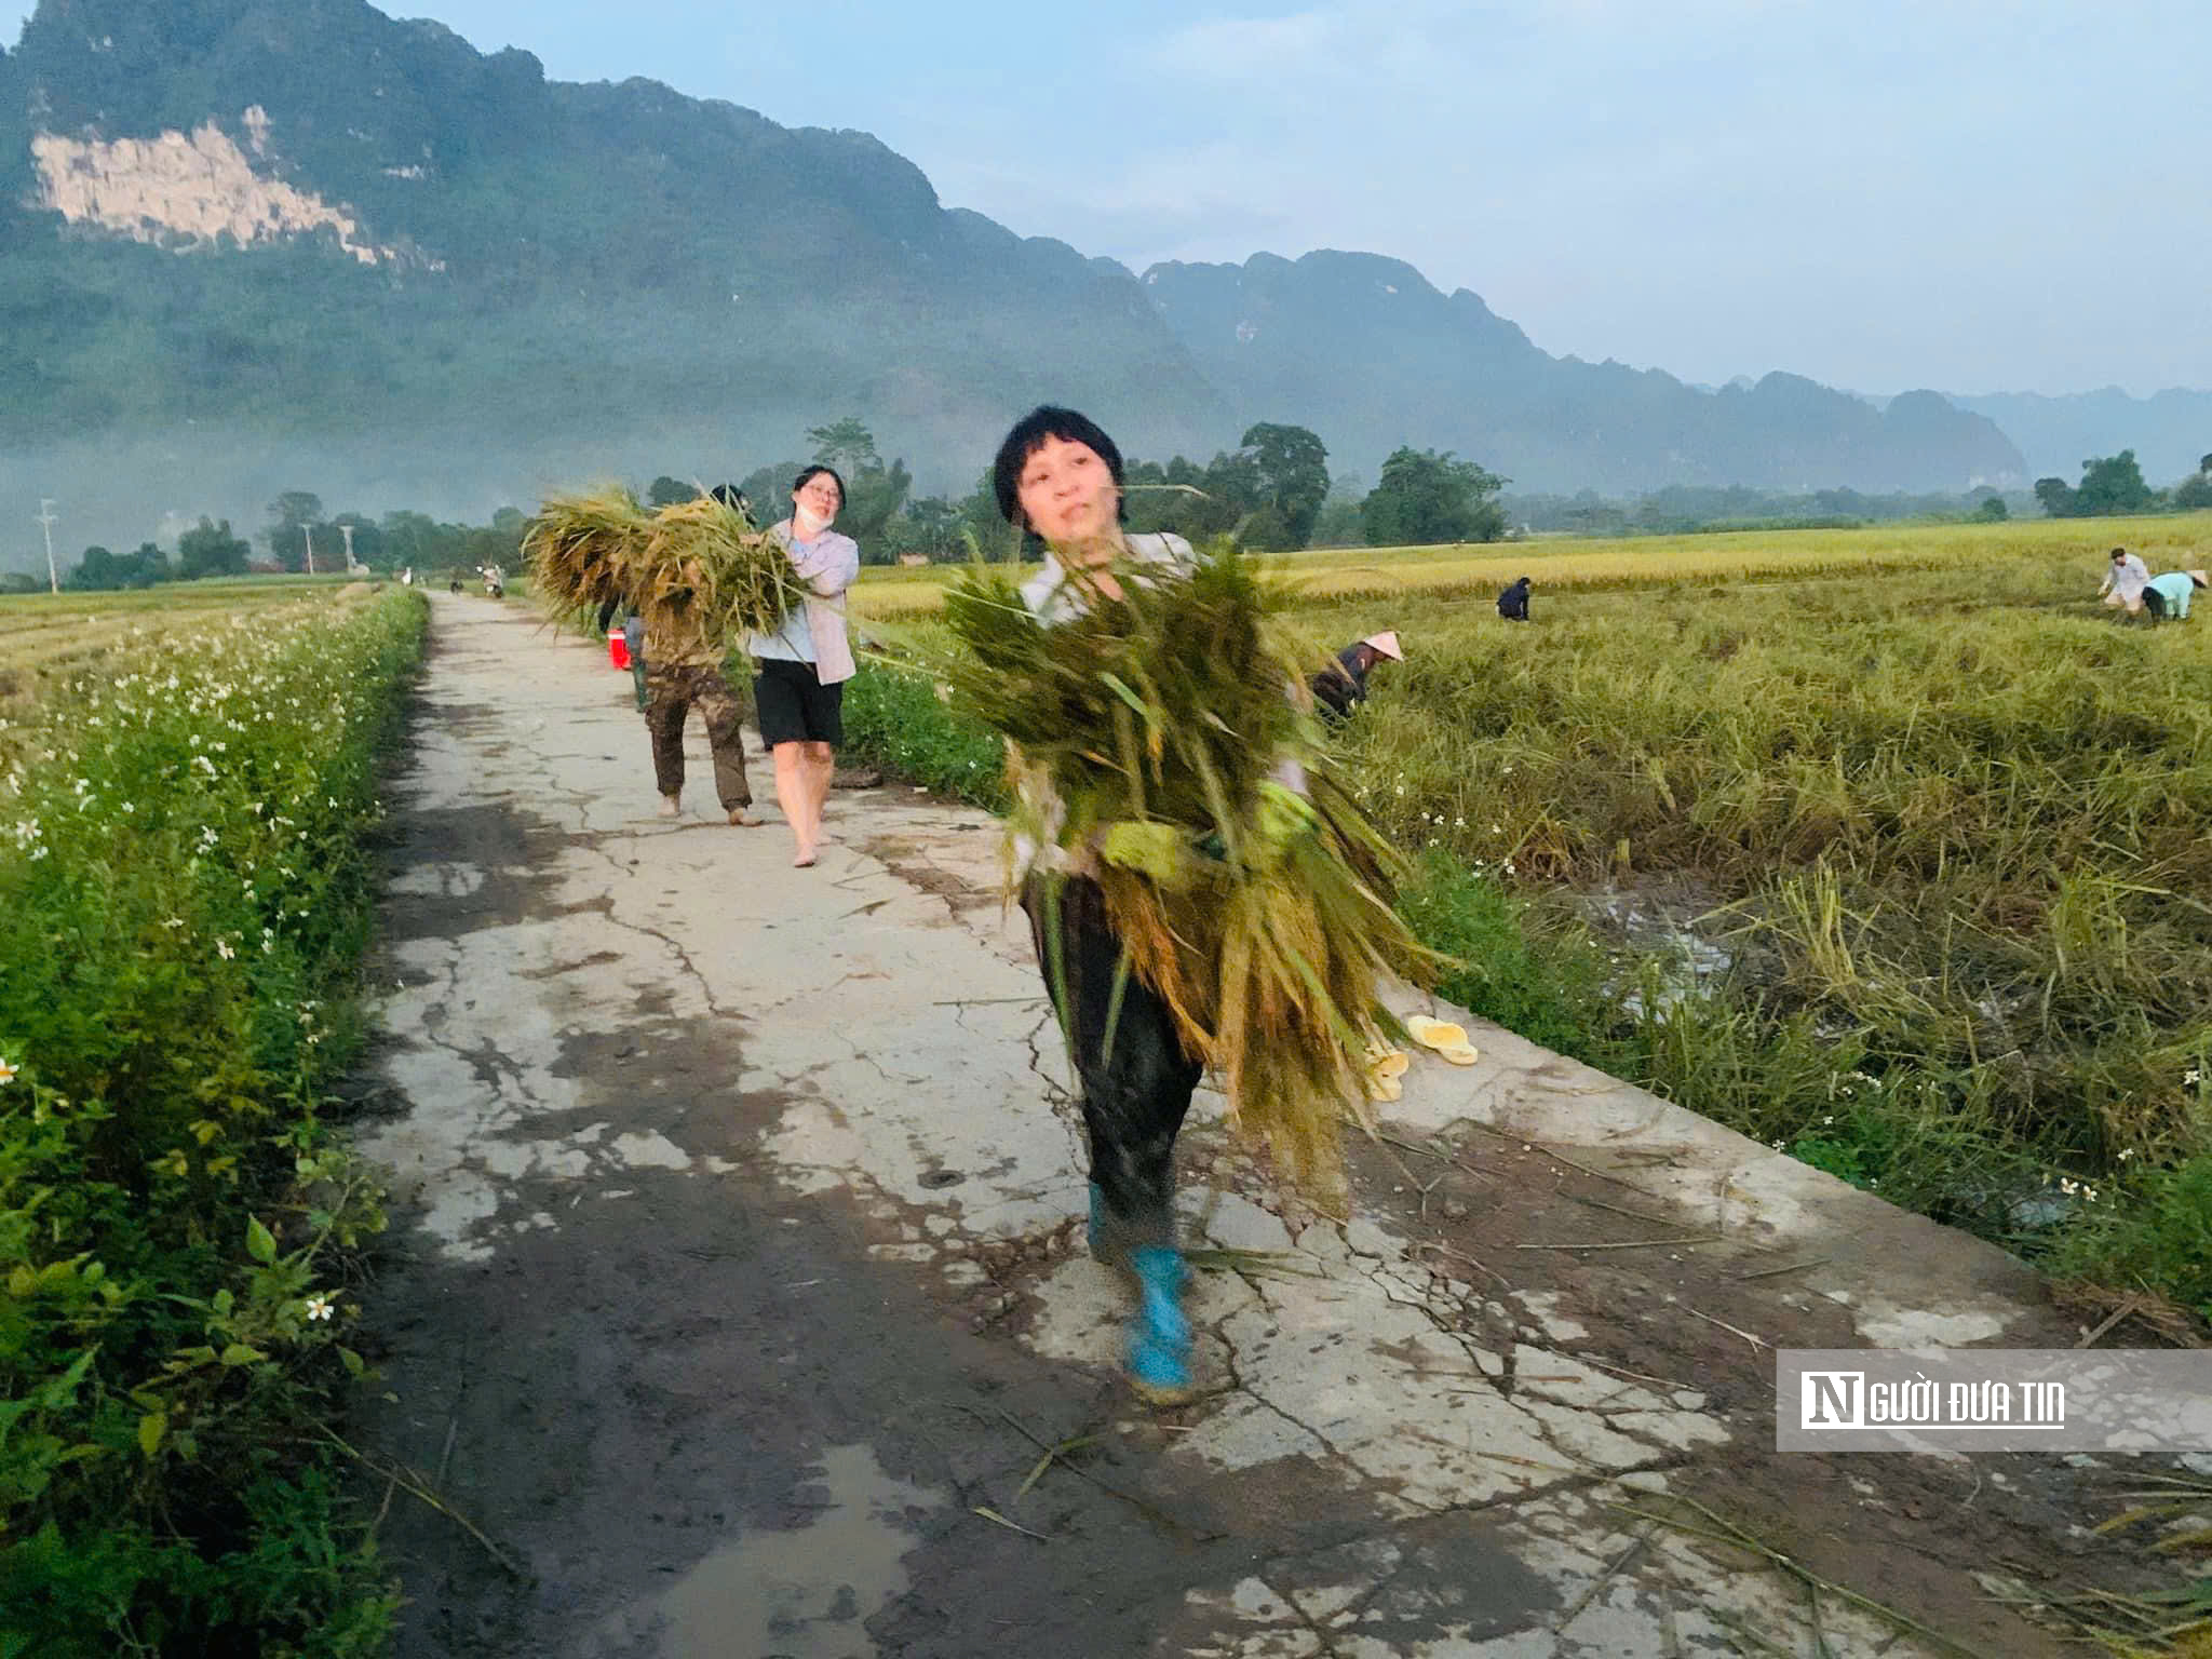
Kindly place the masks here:
POLYGON ((661 1601, 664 1659, 874 1659, 863 1621, 907 1593, 909 1511, 947 1500, 891 1480, 867 1447, 830 1447, 810 1526, 754 1533, 695 1566, 661 1601))

